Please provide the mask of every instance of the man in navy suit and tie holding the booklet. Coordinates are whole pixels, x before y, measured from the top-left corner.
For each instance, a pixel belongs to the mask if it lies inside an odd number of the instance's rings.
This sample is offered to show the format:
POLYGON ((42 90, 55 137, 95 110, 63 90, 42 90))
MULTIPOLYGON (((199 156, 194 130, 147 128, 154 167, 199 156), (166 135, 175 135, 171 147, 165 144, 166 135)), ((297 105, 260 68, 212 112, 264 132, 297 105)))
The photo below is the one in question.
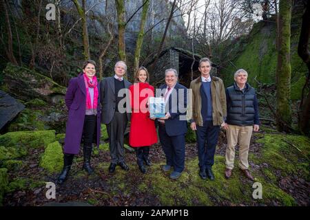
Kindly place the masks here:
POLYGON ((176 69, 165 71, 165 85, 159 87, 165 98, 166 115, 158 119, 159 139, 166 155, 165 172, 172 167, 170 178, 178 179, 185 164, 185 134, 187 132, 187 88, 178 82, 176 69))

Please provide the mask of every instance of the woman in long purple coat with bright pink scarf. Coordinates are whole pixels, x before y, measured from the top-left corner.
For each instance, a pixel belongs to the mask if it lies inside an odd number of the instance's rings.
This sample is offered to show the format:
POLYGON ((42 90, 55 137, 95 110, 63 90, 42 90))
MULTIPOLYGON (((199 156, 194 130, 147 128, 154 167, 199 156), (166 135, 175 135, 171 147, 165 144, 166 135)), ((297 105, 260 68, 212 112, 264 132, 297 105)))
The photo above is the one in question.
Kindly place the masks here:
POLYGON ((96 78, 96 63, 86 61, 83 64, 83 74, 72 78, 65 94, 65 104, 69 115, 65 130, 65 146, 63 148, 63 171, 58 177, 58 183, 68 177, 74 155, 79 154, 83 136, 83 168, 92 174, 90 166, 92 143, 99 146, 100 138, 100 88, 96 78))

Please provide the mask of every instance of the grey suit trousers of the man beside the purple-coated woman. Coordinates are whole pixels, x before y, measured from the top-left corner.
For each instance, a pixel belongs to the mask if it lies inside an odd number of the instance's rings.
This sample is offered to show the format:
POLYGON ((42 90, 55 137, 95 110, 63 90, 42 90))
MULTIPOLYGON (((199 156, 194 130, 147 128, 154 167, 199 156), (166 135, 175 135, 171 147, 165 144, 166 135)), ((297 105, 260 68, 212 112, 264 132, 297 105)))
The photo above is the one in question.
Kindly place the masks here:
POLYGON ((109 135, 109 146, 111 163, 124 162, 124 133, 127 126, 126 113, 115 112, 110 124, 107 124, 107 135, 109 135))

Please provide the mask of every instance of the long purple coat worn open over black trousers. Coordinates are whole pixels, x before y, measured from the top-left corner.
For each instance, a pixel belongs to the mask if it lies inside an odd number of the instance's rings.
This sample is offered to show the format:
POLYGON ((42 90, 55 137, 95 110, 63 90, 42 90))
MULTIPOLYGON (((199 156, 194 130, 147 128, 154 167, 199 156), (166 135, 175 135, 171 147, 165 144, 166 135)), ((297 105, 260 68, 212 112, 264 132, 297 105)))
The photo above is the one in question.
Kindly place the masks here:
MULTIPOLYGON (((68 107, 68 121, 65 129, 65 146, 63 153, 79 154, 81 137, 86 111, 86 87, 83 74, 72 78, 65 94, 65 105, 68 107)), ((98 83, 96 145, 99 146, 101 130, 100 83, 98 83)))

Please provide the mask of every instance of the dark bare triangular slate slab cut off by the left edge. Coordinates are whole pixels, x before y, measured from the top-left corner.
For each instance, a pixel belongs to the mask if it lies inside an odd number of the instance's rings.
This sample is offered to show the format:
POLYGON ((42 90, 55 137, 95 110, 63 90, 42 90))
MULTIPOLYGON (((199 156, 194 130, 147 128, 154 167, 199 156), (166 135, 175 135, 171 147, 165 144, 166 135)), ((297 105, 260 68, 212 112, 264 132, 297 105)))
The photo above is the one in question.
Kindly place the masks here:
POLYGON ((25 106, 0 90, 0 130, 12 121, 25 106))

